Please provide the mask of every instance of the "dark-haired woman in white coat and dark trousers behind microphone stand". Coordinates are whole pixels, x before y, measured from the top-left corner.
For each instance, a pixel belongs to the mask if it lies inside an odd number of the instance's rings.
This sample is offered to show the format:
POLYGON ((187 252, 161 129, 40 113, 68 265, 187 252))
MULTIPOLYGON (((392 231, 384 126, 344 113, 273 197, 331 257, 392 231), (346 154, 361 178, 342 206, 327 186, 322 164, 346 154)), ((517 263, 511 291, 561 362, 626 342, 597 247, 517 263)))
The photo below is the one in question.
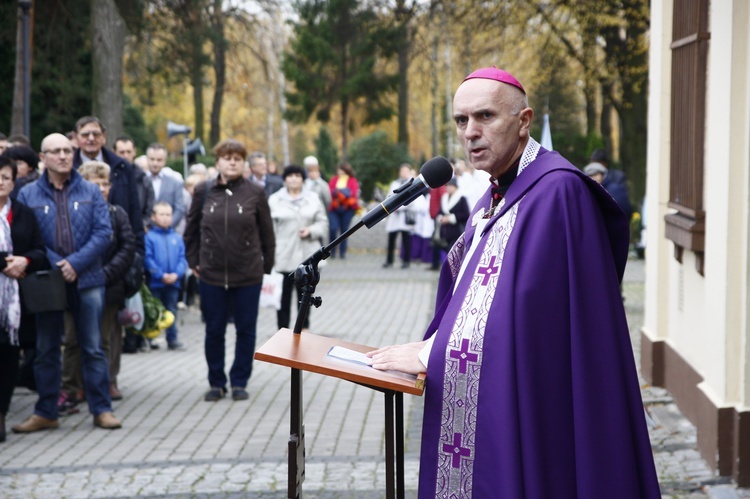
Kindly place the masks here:
MULTIPOLYGON (((277 312, 279 329, 288 328, 291 319, 292 289, 296 288, 289 273, 320 248, 320 239, 328 234, 328 214, 320 198, 303 188, 305 170, 297 165, 284 168, 284 187, 268 198, 276 236, 274 269, 284 275, 281 310, 277 312)), ((299 298, 300 290, 297 289, 299 298)), ((299 300, 298 300, 299 301, 299 300)), ((304 329, 310 327, 310 315, 304 329)))

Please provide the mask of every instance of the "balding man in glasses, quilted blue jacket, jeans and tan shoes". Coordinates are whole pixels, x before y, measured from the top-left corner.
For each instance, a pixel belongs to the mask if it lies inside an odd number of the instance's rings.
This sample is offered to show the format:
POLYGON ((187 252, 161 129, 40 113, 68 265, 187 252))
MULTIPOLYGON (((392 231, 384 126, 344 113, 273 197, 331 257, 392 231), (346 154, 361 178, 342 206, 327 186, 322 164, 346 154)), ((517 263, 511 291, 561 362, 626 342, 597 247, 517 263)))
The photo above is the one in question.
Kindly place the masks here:
POLYGON ((42 141, 39 155, 46 165, 44 173, 18 195, 20 203, 33 208, 47 258, 62 272, 67 306, 64 311, 40 312, 36 316, 34 377, 39 398, 34 413, 13 427, 16 433, 59 427, 64 312, 70 312, 75 322, 86 402, 94 416, 94 425, 109 430, 121 427, 112 413, 109 367, 100 333, 105 284, 102 259, 109 247, 112 227, 99 187, 85 182, 73 169, 73 153, 73 146, 64 135, 48 135, 42 141))

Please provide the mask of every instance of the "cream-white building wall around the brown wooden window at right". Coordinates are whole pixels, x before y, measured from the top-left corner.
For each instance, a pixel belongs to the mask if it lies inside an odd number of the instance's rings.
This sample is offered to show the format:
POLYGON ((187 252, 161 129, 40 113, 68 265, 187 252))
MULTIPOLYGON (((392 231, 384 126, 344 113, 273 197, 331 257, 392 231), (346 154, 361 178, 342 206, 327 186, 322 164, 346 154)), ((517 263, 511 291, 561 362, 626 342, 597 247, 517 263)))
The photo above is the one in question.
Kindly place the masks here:
POLYGON ((674 259, 670 212, 673 0, 651 4, 647 158, 646 309, 643 332, 666 340, 704 377, 717 407, 750 405, 750 2, 710 2, 706 94, 704 276, 695 254, 674 259))

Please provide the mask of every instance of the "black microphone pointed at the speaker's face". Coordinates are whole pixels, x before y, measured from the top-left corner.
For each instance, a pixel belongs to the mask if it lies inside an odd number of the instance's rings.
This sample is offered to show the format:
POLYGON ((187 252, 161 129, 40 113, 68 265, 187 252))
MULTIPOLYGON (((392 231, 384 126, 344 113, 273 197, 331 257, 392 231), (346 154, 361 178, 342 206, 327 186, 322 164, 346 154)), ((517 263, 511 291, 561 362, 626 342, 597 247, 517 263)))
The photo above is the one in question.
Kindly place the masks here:
POLYGON ((393 191, 379 206, 371 209, 361 222, 368 228, 383 220, 385 217, 406 206, 430 189, 443 186, 453 177, 453 167, 442 156, 436 156, 427 161, 419 170, 417 178, 409 179, 404 185, 393 191))

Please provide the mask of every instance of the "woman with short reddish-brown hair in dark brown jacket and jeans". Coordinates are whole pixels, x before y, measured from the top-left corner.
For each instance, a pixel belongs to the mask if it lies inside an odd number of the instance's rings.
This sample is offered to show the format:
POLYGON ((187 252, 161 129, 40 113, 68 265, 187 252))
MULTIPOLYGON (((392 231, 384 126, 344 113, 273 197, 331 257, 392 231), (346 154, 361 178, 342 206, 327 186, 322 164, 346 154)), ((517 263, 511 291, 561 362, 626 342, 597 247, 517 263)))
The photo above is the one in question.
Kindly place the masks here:
POLYGON ((211 389, 204 400, 226 394, 224 343, 229 311, 237 341, 229 381, 234 400, 247 400, 253 368, 255 328, 263 274, 273 269, 273 222, 262 185, 242 176, 247 149, 223 140, 214 147, 215 180, 195 186, 185 226, 189 267, 200 279, 201 311, 206 322, 206 362, 211 389))

